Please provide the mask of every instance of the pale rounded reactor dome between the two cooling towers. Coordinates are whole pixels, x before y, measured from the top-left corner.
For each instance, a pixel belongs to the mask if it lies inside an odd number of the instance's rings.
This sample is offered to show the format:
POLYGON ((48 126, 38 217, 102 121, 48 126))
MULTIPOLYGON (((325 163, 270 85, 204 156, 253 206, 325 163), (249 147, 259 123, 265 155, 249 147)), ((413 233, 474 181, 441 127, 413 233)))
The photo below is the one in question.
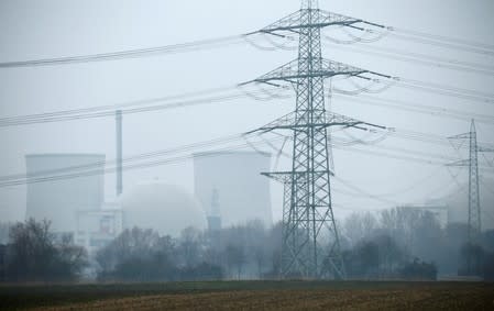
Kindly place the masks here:
POLYGON ((184 189, 158 181, 142 182, 120 198, 123 227, 153 229, 162 235, 179 235, 194 226, 206 229, 200 203, 184 189))

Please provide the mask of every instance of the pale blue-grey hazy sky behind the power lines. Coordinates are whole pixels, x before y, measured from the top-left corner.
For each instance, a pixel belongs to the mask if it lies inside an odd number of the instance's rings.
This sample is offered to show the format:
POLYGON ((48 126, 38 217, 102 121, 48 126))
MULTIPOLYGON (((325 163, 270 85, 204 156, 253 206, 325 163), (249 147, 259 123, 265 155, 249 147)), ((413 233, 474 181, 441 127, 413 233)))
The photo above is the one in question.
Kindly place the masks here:
MULTIPOLYGON (((353 0, 320 1, 328 11, 402 29, 448 35, 494 45, 492 0, 353 0)), ((296 11, 296 0, 251 1, 30 1, 0 0, 0 62, 107 53, 213 38, 255 31, 296 11)), ((384 38, 376 46, 400 48, 494 66, 494 57, 432 48, 384 38)), ((494 77, 353 54, 325 46, 325 57, 383 74, 493 92, 494 77)), ((248 43, 217 49, 136 59, 0 69, 0 118, 97 107, 230 86, 261 76, 296 57, 296 52, 264 52, 248 43)), ((391 89, 382 98, 403 99, 493 115, 494 107, 430 93, 391 89)), ((334 99, 339 113, 389 127, 450 136, 469 131, 469 122, 376 108, 334 99)), ((239 100, 124 118, 124 156, 165 149, 245 132, 286 114, 293 100, 239 100)), ((479 124, 479 140, 494 143, 494 127, 479 124)), ((0 175, 25 171, 31 153, 101 153, 114 158, 114 120, 70 121, 0 129, 0 175)), ((383 146, 455 155, 450 147, 391 138, 383 146)), ((372 147, 374 151, 378 148, 372 147)), ((453 191, 446 168, 334 151, 339 177, 370 193, 414 191, 388 197, 398 203, 421 203, 453 191), (426 181, 426 177, 430 176, 426 181), (437 190, 435 190, 437 189, 437 190), (432 192, 431 192, 432 191, 432 192)), ((286 165, 282 163, 281 165, 286 165)), ((160 178, 193 191, 190 163, 129 171, 125 188, 160 178)), ((492 175, 491 175, 492 176, 492 175)), ((461 173, 458 178, 466 178, 461 173)), ((107 199, 114 197, 114 177, 107 176, 107 199)), ((454 186, 454 185, 453 185, 454 186)), ((334 181, 337 190, 349 190, 334 181)), ((492 191, 492 189, 490 189, 492 191)), ((334 193, 344 210, 389 208, 392 202, 334 193)), ((492 202, 490 202, 492 203, 492 202)), ((485 208, 485 207, 484 207, 485 208)), ((491 204, 491 211, 494 206, 491 204)), ((0 220, 22 220, 25 187, 0 188, 0 220)), ((281 218, 279 187, 273 185, 274 219, 281 218)), ((343 211, 340 211, 343 213, 343 211)), ((494 212, 493 216, 494 216, 494 212)))

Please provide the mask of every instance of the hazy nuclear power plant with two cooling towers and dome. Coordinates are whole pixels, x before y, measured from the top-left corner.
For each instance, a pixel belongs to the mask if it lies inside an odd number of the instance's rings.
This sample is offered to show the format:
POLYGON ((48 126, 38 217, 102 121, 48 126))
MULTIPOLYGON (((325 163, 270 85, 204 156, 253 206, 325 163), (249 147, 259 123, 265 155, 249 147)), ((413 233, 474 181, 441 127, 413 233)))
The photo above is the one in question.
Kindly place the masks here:
POLYGON ((270 154, 195 154, 195 193, 156 180, 123 190, 119 156, 116 202, 105 199, 105 155, 37 154, 25 158, 29 176, 64 176, 29 184, 26 219, 48 220, 53 232, 70 234, 89 253, 135 226, 178 236, 188 226, 220 230, 250 220, 272 224, 270 182, 259 174, 268 170, 270 154), (81 174, 88 170, 97 174, 81 174), (69 178, 65 178, 67 174, 69 178))

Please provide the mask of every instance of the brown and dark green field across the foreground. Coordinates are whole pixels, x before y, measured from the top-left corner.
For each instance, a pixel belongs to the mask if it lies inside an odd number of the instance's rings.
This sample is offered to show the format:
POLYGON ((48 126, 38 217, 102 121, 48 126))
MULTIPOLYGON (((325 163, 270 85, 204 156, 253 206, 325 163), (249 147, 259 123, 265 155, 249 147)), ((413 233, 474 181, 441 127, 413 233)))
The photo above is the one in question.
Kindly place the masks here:
POLYGON ((494 286, 304 281, 32 286, 0 287, 0 299, 4 310, 494 310, 494 286))

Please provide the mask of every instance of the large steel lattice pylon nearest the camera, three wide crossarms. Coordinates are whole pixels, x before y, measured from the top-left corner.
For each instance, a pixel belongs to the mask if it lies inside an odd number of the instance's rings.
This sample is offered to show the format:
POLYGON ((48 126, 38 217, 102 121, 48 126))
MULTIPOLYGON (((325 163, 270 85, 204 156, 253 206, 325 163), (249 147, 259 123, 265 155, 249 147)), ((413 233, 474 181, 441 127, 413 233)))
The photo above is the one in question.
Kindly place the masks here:
POLYGON ((322 58, 321 29, 331 25, 358 27, 358 23, 370 24, 325 12, 318 9, 317 1, 305 0, 299 11, 259 31, 281 37, 285 33, 299 36, 297 59, 248 82, 274 87, 288 84, 297 98, 294 112, 253 131, 293 132, 290 170, 264 174, 284 185, 282 274, 285 277, 345 278, 331 204, 328 129, 343 126, 369 130, 377 125, 327 111, 325 79, 334 76, 365 80, 372 78, 369 76, 391 77, 322 58), (329 241, 329 245, 322 243, 323 238, 329 241))

